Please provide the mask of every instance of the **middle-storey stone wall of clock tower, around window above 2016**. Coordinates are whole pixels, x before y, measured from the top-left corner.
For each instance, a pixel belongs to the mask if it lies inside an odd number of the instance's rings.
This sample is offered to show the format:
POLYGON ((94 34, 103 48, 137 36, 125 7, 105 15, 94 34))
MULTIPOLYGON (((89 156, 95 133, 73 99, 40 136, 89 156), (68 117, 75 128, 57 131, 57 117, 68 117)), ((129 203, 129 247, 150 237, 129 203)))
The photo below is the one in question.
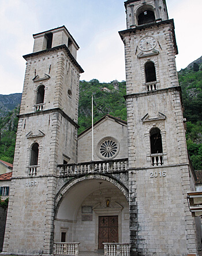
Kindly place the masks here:
POLYGON ((158 127, 161 132, 164 164, 188 163, 178 88, 146 92, 128 98, 130 167, 143 168, 152 165, 149 132, 153 127, 158 127), (161 118, 159 113, 165 117, 161 118), (147 114, 148 118, 143 120, 147 114))

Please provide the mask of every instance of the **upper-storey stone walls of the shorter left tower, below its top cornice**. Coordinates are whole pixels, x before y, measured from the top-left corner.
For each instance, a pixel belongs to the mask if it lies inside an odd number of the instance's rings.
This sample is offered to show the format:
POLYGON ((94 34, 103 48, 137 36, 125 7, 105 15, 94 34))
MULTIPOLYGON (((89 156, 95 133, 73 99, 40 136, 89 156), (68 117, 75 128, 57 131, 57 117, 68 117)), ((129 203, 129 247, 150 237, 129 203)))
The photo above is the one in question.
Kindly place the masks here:
POLYGON ((79 78, 78 68, 72 64, 65 50, 27 57, 20 114, 36 112, 38 87, 43 85, 43 110, 59 107, 77 122, 79 78))

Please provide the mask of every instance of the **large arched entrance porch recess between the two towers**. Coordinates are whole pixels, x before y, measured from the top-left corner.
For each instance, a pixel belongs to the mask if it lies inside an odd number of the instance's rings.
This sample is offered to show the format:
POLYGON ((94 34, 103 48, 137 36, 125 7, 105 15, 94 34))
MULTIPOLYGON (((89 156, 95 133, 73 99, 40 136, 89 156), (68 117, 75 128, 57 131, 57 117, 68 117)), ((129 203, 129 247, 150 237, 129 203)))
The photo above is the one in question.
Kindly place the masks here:
POLYGON ((80 251, 102 243, 129 243, 128 190, 102 175, 66 184, 56 198, 54 242, 80 242, 80 251))

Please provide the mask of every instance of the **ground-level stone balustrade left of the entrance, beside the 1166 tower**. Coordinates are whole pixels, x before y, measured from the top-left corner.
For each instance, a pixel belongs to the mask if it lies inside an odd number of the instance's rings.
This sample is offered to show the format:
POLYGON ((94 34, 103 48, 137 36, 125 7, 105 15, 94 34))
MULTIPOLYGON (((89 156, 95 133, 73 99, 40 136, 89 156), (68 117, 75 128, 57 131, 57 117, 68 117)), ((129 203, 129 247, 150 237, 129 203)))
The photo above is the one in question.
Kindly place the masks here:
POLYGON ((78 255, 78 245, 80 243, 54 243, 53 254, 54 255, 78 255))

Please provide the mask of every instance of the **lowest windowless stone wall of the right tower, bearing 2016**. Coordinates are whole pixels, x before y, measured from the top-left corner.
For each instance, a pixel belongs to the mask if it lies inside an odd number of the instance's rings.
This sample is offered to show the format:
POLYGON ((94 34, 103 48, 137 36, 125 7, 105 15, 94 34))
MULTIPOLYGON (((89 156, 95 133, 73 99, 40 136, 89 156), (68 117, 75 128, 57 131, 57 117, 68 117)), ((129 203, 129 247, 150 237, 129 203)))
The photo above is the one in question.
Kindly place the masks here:
POLYGON ((194 219, 186 199, 188 166, 140 169, 135 177, 138 255, 196 253, 194 219))

